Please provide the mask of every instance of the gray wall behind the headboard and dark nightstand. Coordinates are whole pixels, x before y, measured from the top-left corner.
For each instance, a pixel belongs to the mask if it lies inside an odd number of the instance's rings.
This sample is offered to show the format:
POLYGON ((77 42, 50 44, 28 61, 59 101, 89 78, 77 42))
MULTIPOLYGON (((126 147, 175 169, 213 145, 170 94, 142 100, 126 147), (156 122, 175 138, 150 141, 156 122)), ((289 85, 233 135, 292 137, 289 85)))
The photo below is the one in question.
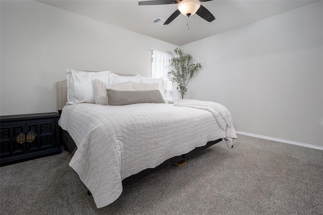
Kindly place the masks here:
POLYGON ((1 1, 0 115, 56 111, 66 69, 150 76, 176 46, 35 1, 1 1))

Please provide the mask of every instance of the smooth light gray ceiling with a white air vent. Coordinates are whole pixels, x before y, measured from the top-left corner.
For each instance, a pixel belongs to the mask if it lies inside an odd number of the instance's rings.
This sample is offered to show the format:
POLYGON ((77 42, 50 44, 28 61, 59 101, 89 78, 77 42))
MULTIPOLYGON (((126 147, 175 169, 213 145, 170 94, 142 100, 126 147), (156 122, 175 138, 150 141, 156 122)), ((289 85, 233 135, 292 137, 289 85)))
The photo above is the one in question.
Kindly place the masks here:
POLYGON ((185 45, 230 29, 291 11, 318 1, 301 0, 214 0, 201 3, 216 17, 209 23, 198 15, 179 15, 167 26, 151 23, 156 17, 167 18, 177 9, 175 5, 139 6, 138 1, 37 1, 95 20, 119 26, 174 45, 185 45))

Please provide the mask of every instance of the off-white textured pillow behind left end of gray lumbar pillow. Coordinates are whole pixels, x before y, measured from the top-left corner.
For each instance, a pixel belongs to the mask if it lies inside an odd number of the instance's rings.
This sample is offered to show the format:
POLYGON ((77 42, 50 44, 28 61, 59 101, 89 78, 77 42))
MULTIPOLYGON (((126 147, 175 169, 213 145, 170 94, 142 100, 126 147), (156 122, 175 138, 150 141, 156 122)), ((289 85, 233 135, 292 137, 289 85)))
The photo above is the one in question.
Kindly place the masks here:
POLYGON ((111 85, 109 83, 94 79, 95 104, 107 105, 106 89, 132 91, 132 83, 133 82, 122 82, 111 85))

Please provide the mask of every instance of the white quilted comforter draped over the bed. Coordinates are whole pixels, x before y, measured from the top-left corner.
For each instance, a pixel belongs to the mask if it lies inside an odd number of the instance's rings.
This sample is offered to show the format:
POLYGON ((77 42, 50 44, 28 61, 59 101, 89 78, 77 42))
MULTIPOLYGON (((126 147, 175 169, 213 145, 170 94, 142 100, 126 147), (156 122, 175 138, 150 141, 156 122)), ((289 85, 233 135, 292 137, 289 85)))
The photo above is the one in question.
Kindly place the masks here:
POLYGON ((59 124, 78 147, 69 165, 98 208, 119 197, 124 178, 208 141, 237 137, 233 125, 221 129, 209 111, 173 104, 73 104, 59 124))

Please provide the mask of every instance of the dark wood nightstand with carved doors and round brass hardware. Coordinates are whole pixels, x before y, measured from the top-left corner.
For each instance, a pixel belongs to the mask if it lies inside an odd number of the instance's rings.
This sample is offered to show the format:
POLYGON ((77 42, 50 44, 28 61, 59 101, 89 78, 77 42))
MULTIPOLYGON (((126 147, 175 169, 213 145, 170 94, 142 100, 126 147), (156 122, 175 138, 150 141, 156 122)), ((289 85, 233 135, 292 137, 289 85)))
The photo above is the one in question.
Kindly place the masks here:
POLYGON ((0 116, 0 165, 60 154, 58 113, 0 116))

